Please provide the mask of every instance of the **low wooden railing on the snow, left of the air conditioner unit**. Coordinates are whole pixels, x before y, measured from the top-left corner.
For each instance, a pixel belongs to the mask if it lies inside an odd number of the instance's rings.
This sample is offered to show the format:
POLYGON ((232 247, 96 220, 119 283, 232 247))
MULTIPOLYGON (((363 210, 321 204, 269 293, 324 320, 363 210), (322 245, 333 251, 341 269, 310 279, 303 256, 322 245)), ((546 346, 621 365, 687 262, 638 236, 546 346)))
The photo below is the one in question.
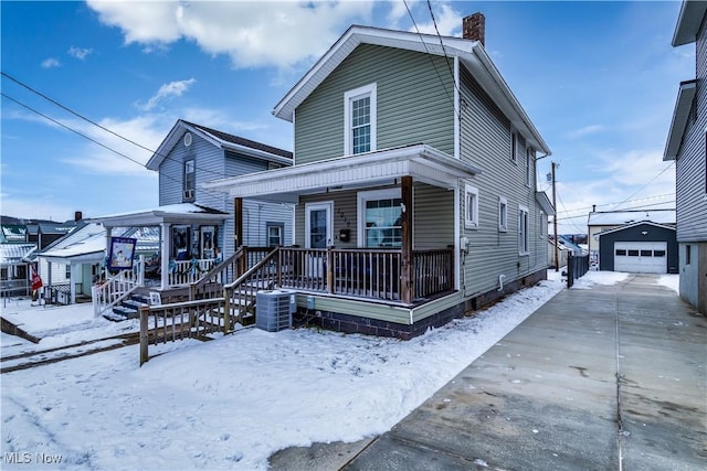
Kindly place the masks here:
POLYGON ((213 298, 140 308, 140 366, 149 360, 150 344, 228 333, 224 306, 223 298, 213 298))

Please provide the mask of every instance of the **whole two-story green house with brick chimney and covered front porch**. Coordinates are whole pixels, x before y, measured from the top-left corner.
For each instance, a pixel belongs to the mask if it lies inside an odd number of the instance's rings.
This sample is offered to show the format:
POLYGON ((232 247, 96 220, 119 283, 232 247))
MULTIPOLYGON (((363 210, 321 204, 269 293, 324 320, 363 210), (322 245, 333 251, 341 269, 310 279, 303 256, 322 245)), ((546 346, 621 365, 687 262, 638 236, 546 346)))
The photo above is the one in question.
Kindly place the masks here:
POLYGON ((547 276, 550 150, 464 22, 351 26, 273 111, 295 164, 205 184, 296 204, 279 286, 320 325, 411 338, 547 276))

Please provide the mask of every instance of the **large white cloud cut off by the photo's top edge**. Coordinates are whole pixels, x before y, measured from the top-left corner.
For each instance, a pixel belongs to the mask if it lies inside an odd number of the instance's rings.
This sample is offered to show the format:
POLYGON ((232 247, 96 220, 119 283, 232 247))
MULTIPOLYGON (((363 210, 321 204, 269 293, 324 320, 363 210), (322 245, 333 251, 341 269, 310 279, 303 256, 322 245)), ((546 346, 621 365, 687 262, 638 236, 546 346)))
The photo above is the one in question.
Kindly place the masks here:
POLYGON ((372 1, 103 2, 89 0, 126 43, 165 45, 184 39, 236 68, 292 68, 318 57, 350 23, 368 22, 372 1))

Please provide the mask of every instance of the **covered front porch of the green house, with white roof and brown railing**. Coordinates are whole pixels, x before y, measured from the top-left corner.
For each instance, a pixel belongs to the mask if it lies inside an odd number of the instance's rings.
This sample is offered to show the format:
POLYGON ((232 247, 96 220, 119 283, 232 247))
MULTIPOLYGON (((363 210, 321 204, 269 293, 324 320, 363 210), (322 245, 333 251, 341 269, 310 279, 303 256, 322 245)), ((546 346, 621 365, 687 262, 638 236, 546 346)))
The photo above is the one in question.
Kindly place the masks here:
POLYGON ((460 179, 478 169, 409 146, 207 184, 234 197, 295 203, 295 246, 268 257, 261 287, 413 306, 458 289, 460 179))

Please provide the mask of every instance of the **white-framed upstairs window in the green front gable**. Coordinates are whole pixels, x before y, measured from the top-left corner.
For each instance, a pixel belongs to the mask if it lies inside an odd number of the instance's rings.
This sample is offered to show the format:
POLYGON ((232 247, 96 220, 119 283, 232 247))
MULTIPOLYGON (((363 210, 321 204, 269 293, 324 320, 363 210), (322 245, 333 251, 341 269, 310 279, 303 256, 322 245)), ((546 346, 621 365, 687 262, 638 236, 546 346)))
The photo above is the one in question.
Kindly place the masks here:
POLYGON ((344 153, 376 150, 377 86, 370 84, 344 94, 344 153))

